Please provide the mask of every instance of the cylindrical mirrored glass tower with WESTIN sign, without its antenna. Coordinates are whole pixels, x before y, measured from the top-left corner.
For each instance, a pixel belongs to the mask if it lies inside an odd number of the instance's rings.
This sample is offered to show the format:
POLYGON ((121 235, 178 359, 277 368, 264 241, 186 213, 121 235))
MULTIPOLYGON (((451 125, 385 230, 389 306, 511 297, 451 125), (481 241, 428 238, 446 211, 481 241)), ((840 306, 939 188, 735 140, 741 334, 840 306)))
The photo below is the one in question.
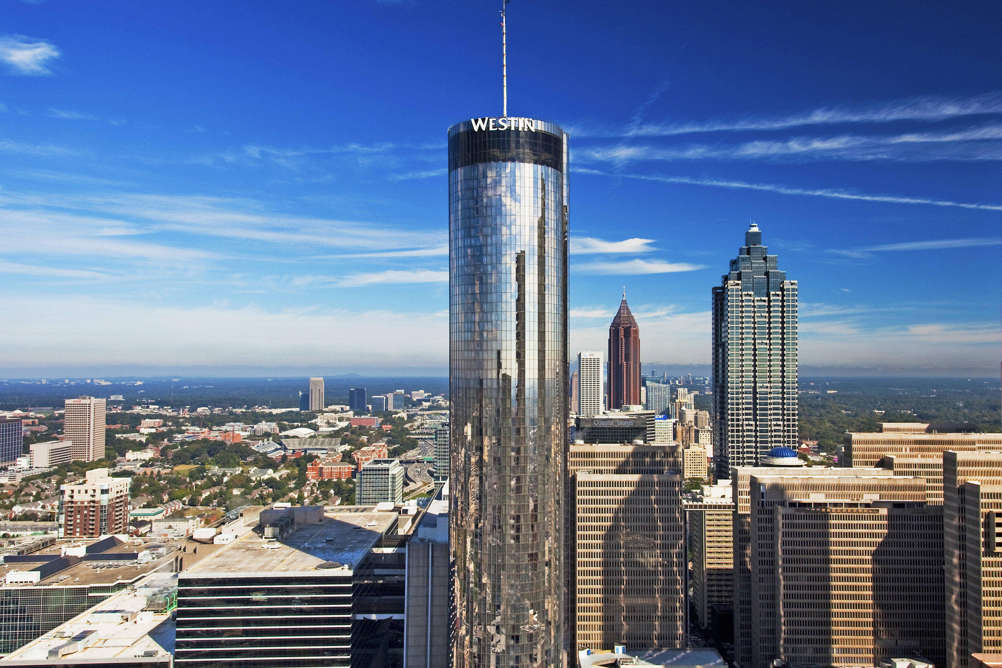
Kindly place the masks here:
POLYGON ((567 136, 449 129, 452 664, 563 665, 567 136))

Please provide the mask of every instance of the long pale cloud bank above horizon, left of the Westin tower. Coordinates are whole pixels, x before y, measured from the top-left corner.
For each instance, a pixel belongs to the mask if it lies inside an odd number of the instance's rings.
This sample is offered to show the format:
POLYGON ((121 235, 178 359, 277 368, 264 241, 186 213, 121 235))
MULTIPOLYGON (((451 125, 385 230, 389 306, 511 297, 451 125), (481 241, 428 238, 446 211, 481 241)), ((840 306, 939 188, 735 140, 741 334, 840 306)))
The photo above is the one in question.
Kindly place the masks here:
MULTIPOLYGON (((0 304, 8 312, 24 305, 13 294, 0 295, 0 304)), ((448 364, 448 316, 439 312, 179 306, 92 297, 50 298, 46 308, 44 318, 29 318, 5 333, 0 366, 218 368, 261 366, 266 360, 316 368, 372 360, 388 368, 440 369, 448 364)))

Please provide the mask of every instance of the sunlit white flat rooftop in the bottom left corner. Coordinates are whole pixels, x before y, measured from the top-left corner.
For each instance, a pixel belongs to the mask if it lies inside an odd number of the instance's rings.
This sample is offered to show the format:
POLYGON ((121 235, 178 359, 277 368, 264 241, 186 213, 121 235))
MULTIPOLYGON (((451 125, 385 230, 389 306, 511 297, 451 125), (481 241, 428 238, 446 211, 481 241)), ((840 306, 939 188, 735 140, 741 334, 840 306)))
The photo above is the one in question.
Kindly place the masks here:
POLYGON ((105 599, 8 654, 0 664, 108 663, 136 657, 169 657, 174 651, 173 607, 166 594, 174 574, 154 574, 136 589, 105 599), (71 641, 81 641, 71 644, 71 641))

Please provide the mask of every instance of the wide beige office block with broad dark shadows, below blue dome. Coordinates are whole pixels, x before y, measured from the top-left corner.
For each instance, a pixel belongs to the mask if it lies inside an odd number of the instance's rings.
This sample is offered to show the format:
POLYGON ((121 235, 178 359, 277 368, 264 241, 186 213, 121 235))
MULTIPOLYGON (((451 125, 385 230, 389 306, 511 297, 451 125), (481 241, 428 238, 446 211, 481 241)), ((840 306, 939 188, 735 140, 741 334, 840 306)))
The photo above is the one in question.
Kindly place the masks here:
POLYGON ((748 476, 754 614, 741 665, 940 665, 943 508, 927 503, 926 481, 816 473, 748 476))

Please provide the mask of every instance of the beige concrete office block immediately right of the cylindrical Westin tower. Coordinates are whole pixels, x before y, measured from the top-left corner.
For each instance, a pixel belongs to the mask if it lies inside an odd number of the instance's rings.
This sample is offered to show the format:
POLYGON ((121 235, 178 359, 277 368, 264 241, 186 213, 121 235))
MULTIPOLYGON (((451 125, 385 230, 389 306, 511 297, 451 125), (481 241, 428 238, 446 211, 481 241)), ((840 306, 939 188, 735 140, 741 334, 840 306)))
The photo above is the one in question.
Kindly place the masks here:
POLYGON ((574 646, 684 647, 681 448, 576 443, 568 464, 574 646))

